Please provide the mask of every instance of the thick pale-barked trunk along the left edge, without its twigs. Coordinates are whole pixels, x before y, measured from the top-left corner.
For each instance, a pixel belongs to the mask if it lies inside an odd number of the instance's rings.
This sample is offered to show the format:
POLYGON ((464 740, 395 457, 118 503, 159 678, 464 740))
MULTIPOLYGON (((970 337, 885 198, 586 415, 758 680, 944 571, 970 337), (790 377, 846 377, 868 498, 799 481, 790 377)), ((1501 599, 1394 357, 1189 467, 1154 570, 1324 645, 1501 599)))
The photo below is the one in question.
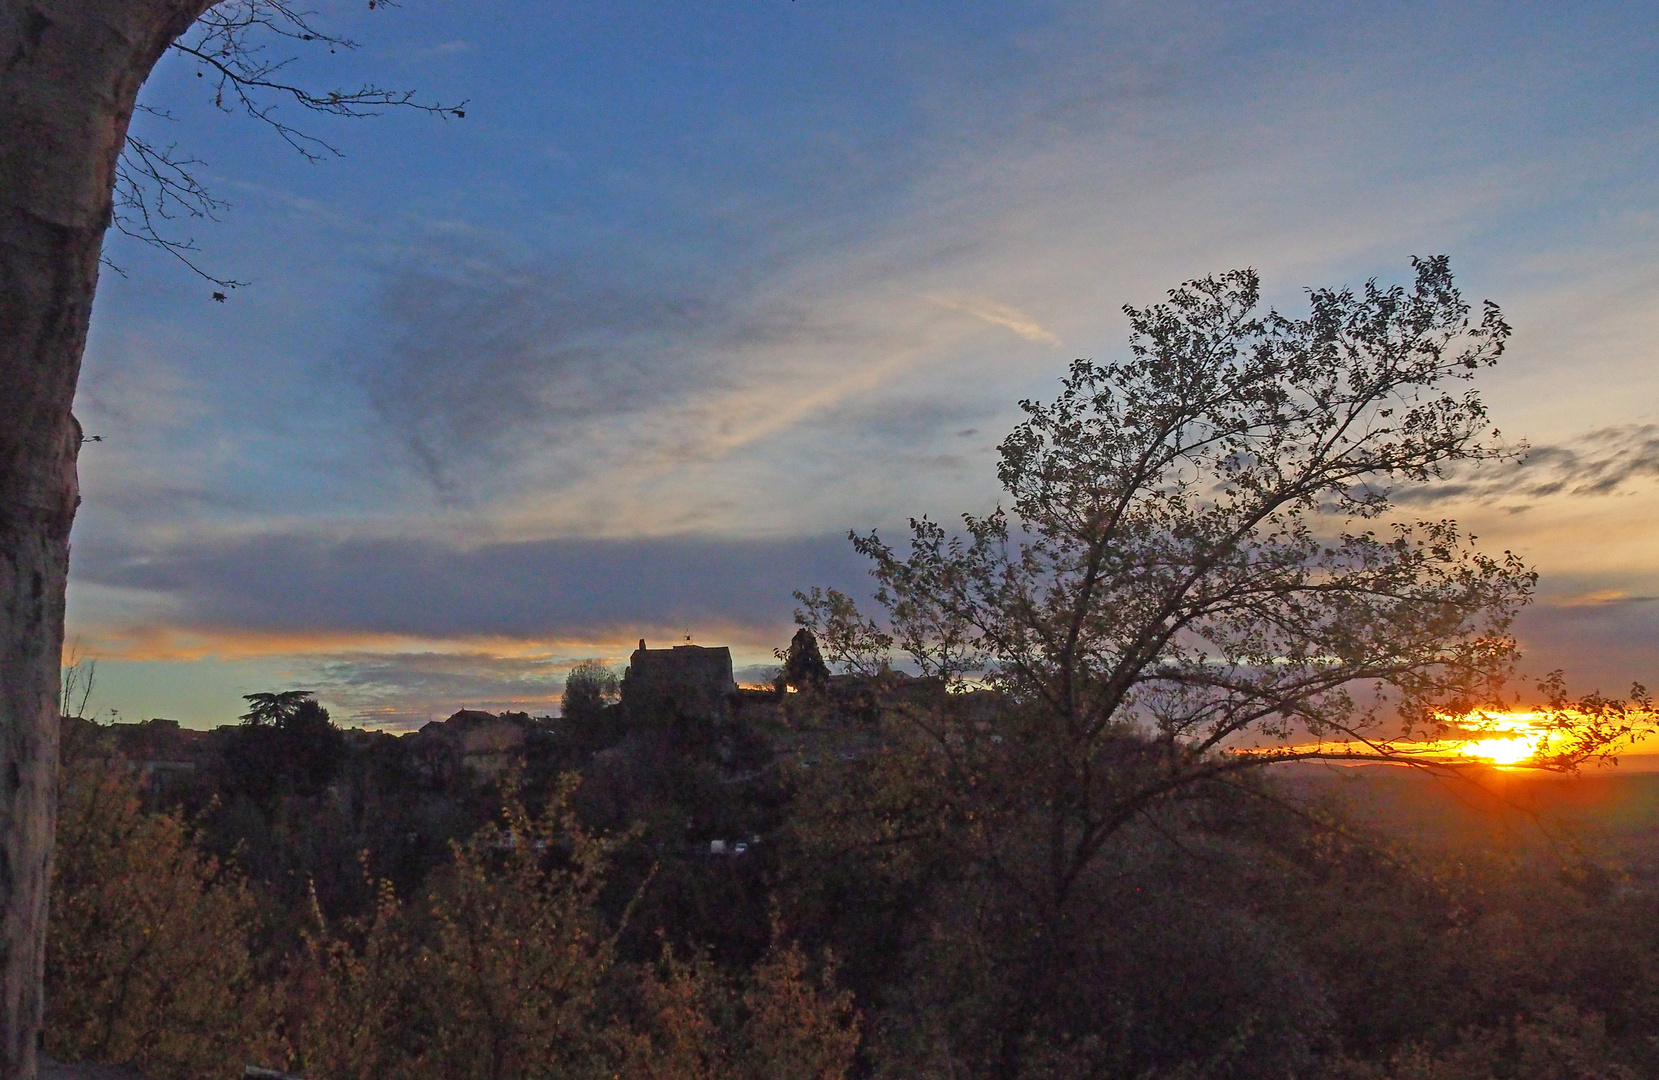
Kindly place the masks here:
POLYGON ((0 1080, 33 1080, 58 783, 70 415, 138 88, 199 0, 0 0, 0 1080))

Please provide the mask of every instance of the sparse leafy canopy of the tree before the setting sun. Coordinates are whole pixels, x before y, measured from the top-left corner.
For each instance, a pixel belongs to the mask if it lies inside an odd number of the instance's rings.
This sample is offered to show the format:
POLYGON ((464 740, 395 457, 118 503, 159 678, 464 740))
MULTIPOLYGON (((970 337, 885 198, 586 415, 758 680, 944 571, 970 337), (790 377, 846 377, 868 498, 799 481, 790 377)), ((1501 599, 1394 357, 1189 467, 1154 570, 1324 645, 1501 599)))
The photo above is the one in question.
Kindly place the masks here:
POLYGON ((1412 287, 1258 312, 1253 270, 1126 307, 1121 360, 1078 360, 1000 446, 1007 509, 964 536, 912 519, 874 561, 878 624, 801 596, 833 659, 979 675, 1039 708, 1072 758, 1126 730, 1203 753, 1249 730, 1372 735, 1490 702, 1535 574, 1394 493, 1505 455, 1478 393, 1510 327, 1445 257, 1412 287), (1359 692, 1364 687, 1364 692, 1359 692))

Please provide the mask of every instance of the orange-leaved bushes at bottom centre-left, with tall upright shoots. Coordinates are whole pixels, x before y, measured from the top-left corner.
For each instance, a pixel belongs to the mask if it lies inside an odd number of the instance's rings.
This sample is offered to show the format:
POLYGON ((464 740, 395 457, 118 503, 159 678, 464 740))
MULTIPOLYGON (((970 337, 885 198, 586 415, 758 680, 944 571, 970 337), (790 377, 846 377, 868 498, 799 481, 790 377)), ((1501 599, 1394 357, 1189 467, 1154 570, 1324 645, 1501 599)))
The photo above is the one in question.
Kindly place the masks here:
POLYGON ((617 962, 599 914, 612 841, 561 785, 531 815, 513 785, 501 828, 455 846, 420 904, 380 886, 370 919, 319 917, 292 985, 289 1068, 319 1080, 599 1077, 839 1080, 858 1048, 851 995, 793 946, 738 982, 705 959, 617 962), (632 1022, 629 1020, 632 1017, 632 1022))

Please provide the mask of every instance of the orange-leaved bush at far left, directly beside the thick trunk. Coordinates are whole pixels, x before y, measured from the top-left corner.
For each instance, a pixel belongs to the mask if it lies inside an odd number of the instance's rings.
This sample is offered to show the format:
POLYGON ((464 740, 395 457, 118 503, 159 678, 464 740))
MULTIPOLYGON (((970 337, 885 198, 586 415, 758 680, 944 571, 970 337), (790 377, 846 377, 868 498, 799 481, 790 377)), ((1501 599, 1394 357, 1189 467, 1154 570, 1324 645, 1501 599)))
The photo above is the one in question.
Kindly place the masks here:
POLYGON ((241 1077, 270 1000, 249 954, 254 901, 174 813, 144 813, 133 770, 63 770, 46 1052, 154 1080, 241 1077))

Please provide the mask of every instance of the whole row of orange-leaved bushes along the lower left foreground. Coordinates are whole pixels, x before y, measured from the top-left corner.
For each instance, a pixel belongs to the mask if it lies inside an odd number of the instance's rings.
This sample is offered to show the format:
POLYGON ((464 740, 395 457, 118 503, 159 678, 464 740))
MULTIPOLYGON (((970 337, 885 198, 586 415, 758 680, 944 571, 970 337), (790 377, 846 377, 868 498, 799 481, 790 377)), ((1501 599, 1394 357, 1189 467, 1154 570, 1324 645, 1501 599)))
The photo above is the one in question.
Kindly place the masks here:
POLYGON ((154 1080, 841 1080, 858 1048, 833 967, 775 946, 745 977, 698 956, 615 957, 599 907, 614 841, 508 786, 499 828, 455 846, 415 902, 330 926, 312 904, 297 956, 262 957, 247 884, 176 813, 146 813, 133 770, 78 761, 63 783, 48 942, 46 1048, 154 1080), (285 972, 260 982, 255 971, 285 972), (632 1017, 632 1022, 629 1020, 632 1017))

